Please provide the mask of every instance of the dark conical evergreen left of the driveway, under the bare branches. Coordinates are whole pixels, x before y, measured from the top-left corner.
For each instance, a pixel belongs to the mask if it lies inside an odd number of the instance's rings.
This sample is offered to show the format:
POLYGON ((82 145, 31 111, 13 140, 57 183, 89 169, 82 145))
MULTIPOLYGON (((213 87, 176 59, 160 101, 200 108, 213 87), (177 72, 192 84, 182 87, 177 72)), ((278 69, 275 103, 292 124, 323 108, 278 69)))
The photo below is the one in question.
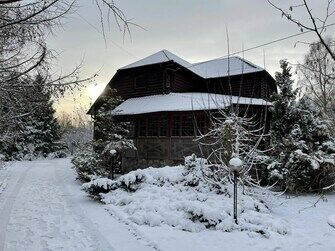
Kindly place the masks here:
MULTIPOLYGON (((15 113, 24 116, 13 121, 13 137, 1 144, 0 152, 6 159, 32 159, 61 150, 62 146, 58 143, 61 130, 55 117, 51 92, 45 88, 45 78, 37 75, 34 79, 21 79, 20 85, 22 91, 12 95, 15 103, 20 104, 15 113)), ((6 105, 11 107, 11 104, 6 105)))

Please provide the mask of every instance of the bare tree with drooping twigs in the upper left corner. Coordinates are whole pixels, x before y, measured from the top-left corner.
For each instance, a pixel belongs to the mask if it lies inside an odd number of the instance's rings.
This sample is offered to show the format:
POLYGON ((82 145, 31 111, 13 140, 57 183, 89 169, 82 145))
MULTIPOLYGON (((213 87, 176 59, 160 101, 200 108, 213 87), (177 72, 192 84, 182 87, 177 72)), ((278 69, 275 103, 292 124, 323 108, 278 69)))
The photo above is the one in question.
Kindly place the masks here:
MULTIPOLYGON (((46 37, 62 25, 68 15, 76 13, 78 0, 1 0, 0 1, 0 138, 11 136, 11 128, 21 123, 29 112, 20 112, 20 94, 29 87, 36 75, 45 78, 45 85, 53 95, 62 95, 81 83, 92 80, 95 75, 80 78, 81 64, 73 71, 55 76, 50 73, 51 62, 56 59, 48 49, 46 37)), ((131 21, 126 18, 113 0, 94 0, 101 27, 111 20, 124 34, 130 34, 131 21)))

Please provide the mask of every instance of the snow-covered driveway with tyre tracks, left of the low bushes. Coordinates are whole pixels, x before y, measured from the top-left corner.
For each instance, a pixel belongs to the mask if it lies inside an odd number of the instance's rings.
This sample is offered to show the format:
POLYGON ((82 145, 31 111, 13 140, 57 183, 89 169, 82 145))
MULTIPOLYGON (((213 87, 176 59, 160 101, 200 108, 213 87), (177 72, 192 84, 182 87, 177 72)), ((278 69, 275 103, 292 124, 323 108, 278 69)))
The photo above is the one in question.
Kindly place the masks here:
POLYGON ((152 250, 80 191, 68 159, 1 170, 0 250, 139 249, 152 250))

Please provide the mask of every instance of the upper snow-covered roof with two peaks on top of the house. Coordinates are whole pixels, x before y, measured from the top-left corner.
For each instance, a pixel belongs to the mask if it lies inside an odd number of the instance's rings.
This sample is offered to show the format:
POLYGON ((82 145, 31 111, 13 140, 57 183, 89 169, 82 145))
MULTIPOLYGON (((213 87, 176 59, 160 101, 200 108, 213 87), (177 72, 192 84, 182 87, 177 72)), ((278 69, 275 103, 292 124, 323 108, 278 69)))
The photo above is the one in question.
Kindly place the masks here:
POLYGON ((189 69, 190 71, 203 78, 226 77, 228 75, 233 76, 264 70, 263 68, 236 56, 229 58, 217 58, 205 62, 191 64, 168 50, 161 50, 159 52, 156 52, 146 58, 126 65, 121 69, 130 69, 134 67, 164 63, 168 61, 174 61, 175 63, 189 69))

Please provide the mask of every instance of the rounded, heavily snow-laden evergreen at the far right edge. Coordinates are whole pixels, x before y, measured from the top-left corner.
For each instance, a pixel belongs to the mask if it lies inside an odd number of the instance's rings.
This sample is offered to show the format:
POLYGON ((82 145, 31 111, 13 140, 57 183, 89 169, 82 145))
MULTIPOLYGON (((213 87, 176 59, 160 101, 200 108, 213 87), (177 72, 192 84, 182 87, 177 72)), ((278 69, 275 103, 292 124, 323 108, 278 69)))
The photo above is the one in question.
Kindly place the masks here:
POLYGON ((297 120, 287 138, 286 187, 290 191, 322 190, 335 183, 335 141, 329 123, 306 97, 297 105, 297 120))

